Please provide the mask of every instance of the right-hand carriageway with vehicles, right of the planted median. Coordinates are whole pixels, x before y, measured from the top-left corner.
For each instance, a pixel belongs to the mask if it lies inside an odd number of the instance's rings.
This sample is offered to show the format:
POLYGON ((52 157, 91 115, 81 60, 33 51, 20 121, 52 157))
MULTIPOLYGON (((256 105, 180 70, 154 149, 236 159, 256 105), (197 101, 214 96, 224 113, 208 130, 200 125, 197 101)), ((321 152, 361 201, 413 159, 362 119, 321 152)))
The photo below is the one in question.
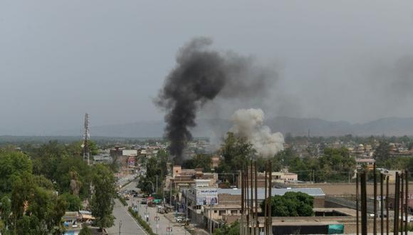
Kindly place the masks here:
MULTIPOLYGON (((136 189, 136 183, 132 182, 131 184, 128 184, 125 189, 136 189)), ((137 200, 139 199, 134 198, 127 202, 130 204, 130 206, 132 206, 132 203, 137 204, 137 200)), ((149 214, 150 219, 148 224, 150 224, 152 231, 159 235, 189 235, 189 232, 184 229, 181 223, 170 222, 167 218, 165 218, 164 214, 157 214, 156 207, 147 207, 145 204, 138 204, 138 211, 142 219, 145 219, 145 213, 149 214), (157 221, 155 221, 155 216, 160 217, 158 223, 157 221), (158 229, 157 224, 159 224, 158 229), (168 233, 167 227, 172 227, 172 232, 168 233)))

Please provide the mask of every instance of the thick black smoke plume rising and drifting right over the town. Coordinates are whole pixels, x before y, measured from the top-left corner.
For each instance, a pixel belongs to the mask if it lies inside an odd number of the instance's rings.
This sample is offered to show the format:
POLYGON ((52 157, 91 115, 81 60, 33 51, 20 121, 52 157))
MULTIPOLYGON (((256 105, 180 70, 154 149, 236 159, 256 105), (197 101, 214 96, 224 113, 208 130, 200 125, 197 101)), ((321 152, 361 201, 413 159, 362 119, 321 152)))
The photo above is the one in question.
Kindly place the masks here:
POLYGON ((253 66, 253 59, 235 53, 219 53, 209 48, 210 38, 195 38, 177 53, 177 66, 167 75, 155 103, 164 108, 169 152, 176 164, 192 140, 197 111, 209 100, 251 98, 265 94, 275 73, 253 66))

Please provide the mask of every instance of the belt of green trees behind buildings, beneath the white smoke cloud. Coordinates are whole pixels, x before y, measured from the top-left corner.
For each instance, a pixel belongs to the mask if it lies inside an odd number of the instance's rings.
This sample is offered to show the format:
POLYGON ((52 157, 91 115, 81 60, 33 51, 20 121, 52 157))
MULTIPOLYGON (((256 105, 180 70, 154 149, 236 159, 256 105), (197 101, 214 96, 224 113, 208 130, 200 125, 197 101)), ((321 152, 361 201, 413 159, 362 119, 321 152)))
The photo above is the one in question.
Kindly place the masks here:
MULTIPOLYGON (((325 148, 323 155, 320 157, 300 158, 291 148, 278 152, 277 155, 270 158, 263 158, 256 155, 256 151, 245 139, 236 137, 228 133, 226 139, 221 145, 220 150, 223 160, 221 161, 216 172, 236 172, 249 160, 255 159, 258 171, 263 172, 266 169, 267 161, 272 163, 273 171, 288 169, 289 172, 298 174, 298 178, 303 181, 343 181, 348 179, 349 175, 355 170, 355 158, 351 157, 346 148, 333 149, 325 148)), ((225 177, 231 182, 231 176, 225 177)))

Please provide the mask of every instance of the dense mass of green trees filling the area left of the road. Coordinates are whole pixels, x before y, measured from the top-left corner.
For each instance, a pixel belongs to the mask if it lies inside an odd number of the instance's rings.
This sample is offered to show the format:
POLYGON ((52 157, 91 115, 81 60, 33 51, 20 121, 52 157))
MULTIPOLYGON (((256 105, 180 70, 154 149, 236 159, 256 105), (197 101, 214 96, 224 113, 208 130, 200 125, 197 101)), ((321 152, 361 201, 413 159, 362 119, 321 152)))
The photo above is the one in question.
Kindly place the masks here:
MULTIPOLYGON (((95 145, 90 149, 95 151, 95 145)), ((2 147, 1 234, 62 234, 65 211, 78 211, 89 199, 96 225, 111 226, 114 190, 113 172, 103 165, 88 166, 80 142, 62 145, 53 141, 38 147, 26 145, 22 150, 2 147), (90 192, 91 186, 105 198, 90 192)))

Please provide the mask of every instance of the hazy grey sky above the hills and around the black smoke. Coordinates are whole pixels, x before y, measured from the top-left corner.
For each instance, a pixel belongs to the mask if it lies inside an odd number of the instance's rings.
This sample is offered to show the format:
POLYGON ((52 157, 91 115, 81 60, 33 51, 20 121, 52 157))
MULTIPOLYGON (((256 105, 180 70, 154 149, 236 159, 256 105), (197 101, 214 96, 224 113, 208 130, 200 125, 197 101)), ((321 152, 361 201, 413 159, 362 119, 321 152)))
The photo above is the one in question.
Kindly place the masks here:
POLYGON ((276 66, 270 116, 413 116, 413 1, 3 0, 0 31, 0 135, 162 120, 197 36, 276 66))

